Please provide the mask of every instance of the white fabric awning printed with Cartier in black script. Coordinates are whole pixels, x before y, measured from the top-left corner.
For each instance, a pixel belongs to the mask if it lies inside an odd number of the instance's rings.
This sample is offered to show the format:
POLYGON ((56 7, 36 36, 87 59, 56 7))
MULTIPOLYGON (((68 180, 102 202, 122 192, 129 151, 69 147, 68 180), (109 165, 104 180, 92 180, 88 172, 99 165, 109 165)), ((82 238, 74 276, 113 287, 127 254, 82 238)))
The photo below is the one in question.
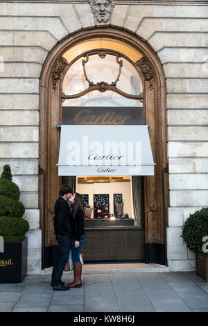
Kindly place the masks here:
POLYGON ((61 126, 58 175, 154 175, 148 126, 61 126))

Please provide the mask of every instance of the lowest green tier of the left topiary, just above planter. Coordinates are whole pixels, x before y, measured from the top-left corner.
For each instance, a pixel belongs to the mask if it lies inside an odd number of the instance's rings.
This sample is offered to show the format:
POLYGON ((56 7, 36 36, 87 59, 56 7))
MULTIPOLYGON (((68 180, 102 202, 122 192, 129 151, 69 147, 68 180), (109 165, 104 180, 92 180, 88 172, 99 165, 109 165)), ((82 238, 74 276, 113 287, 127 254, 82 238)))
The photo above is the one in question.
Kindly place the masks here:
POLYGON ((0 235, 4 241, 24 241, 24 234, 28 230, 29 223, 24 218, 0 217, 0 235))

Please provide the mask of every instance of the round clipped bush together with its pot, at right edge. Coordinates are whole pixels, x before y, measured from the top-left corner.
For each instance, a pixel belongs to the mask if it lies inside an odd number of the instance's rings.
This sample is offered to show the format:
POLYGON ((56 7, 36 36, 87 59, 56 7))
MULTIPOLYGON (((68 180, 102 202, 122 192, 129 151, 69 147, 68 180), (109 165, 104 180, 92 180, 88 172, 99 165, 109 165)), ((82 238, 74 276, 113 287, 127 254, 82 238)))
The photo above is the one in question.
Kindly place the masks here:
POLYGON ((189 215, 182 227, 182 239, 189 250, 196 253, 196 273, 208 282, 208 207, 189 215))

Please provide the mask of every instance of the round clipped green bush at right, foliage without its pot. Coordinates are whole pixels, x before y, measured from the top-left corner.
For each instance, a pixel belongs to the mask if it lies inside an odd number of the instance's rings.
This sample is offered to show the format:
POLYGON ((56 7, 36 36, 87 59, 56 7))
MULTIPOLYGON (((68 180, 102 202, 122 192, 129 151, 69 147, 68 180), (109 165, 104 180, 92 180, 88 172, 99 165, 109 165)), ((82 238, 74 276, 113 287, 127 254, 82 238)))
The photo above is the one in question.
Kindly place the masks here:
POLYGON ((189 215, 182 227, 182 239, 189 250, 202 253, 202 238, 208 235, 208 208, 203 207, 189 215))

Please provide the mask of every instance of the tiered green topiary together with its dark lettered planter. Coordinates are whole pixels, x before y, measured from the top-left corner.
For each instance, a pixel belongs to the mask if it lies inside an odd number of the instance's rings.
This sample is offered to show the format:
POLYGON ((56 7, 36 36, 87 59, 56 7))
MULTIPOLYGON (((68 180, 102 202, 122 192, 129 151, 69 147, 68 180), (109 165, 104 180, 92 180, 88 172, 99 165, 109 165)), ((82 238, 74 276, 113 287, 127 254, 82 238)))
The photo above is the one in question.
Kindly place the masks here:
POLYGON ((20 283, 27 272, 28 221, 22 216, 25 207, 19 201, 19 187, 12 182, 10 166, 3 166, 0 178, 0 283, 20 283), (2 247, 2 246, 1 246, 2 247))

